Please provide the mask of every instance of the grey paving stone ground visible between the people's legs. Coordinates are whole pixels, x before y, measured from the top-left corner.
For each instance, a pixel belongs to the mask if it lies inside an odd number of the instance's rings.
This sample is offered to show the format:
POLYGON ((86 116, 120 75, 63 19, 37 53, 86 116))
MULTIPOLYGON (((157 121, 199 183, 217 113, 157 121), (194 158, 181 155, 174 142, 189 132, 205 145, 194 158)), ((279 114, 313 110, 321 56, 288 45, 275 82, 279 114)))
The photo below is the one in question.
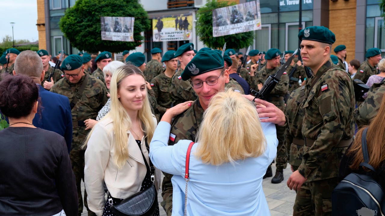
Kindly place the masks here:
MULTIPOLYGON (((273 168, 273 176, 275 174, 275 163, 271 166, 273 168)), ((290 164, 283 171, 284 180, 279 184, 272 184, 269 177, 263 179, 262 186, 263 192, 265 194, 267 204, 269 205, 271 216, 292 216, 293 215, 293 205, 295 200, 295 191, 291 191, 287 185, 286 181, 291 175, 290 164)), ((163 178, 163 176, 162 176, 163 178)), ((84 192, 84 183, 82 182, 82 191, 84 192)), ((84 194, 83 194, 84 197, 84 194)), ((160 216, 167 216, 166 212, 163 210, 160 202, 162 201, 161 193, 158 194, 160 216)), ((87 209, 84 207, 82 216, 87 215, 87 209)))

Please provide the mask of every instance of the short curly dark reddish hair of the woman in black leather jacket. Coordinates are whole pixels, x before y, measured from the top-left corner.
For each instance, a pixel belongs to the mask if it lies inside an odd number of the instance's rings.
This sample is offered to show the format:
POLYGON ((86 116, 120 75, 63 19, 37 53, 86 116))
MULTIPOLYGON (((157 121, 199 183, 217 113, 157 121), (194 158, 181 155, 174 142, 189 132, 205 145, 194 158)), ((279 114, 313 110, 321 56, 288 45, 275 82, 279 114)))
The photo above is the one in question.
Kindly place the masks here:
MULTIPOLYGON (((0 82, 0 110, 10 118, 28 116, 39 99, 39 88, 25 75, 3 76, 0 82)), ((39 103, 40 104, 40 103, 39 103)))

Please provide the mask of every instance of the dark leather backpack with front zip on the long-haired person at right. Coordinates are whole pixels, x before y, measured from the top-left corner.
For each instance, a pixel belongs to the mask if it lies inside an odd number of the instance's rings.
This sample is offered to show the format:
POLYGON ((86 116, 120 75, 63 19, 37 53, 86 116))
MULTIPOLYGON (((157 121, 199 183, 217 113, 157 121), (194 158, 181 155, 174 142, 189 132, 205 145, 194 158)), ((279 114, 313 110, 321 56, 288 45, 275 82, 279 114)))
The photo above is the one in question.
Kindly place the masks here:
POLYGON ((348 174, 331 193, 333 216, 384 216, 385 194, 378 183, 378 171, 369 163, 366 133, 362 133, 361 173, 348 174), (370 169, 365 172, 363 167, 370 169))

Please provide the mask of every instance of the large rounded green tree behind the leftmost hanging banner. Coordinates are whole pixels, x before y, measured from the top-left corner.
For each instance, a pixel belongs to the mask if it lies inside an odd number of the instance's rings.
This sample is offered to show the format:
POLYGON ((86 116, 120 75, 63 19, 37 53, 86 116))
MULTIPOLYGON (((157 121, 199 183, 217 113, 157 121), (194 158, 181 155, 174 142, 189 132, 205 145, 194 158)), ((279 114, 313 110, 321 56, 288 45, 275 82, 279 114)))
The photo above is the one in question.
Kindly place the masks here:
POLYGON ((122 52, 141 45, 141 32, 150 28, 150 20, 139 0, 77 0, 65 11, 60 29, 72 46, 88 52, 122 52), (135 42, 102 40, 100 17, 135 17, 135 42))

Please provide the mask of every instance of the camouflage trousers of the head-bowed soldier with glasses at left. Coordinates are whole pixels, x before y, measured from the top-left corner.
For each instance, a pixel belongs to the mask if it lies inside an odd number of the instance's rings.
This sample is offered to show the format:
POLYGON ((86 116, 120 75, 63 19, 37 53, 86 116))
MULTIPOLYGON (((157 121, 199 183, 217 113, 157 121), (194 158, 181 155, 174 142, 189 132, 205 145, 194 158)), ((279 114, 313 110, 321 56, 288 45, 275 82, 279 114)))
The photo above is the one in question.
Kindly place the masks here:
MULTIPOLYGON (((80 143, 72 143, 72 148, 74 146, 80 146, 80 143)), ((85 150, 80 150, 80 148, 73 148, 70 152, 70 160, 72 165, 72 171, 75 174, 75 182, 77 187, 77 197, 79 199, 79 212, 78 216, 81 216, 83 212, 83 199, 82 199, 82 190, 81 190, 81 182, 83 180, 84 182, 84 153, 85 150)), ((89 208, 87 204, 87 191, 85 191, 84 188, 84 206, 87 208, 88 215, 93 216, 96 215, 93 213, 89 208)))

